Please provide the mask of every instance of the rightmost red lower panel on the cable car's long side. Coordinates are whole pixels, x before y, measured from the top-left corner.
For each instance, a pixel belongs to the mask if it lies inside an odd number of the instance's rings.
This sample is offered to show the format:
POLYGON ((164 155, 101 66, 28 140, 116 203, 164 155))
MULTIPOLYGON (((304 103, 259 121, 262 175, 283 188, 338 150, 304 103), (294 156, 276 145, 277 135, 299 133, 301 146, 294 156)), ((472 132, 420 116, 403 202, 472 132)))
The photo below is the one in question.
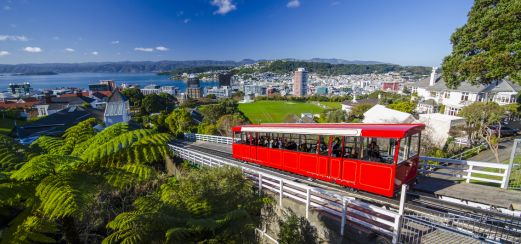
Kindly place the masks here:
POLYGON ((393 164, 360 162, 358 186, 362 190, 392 197, 394 190, 393 164))

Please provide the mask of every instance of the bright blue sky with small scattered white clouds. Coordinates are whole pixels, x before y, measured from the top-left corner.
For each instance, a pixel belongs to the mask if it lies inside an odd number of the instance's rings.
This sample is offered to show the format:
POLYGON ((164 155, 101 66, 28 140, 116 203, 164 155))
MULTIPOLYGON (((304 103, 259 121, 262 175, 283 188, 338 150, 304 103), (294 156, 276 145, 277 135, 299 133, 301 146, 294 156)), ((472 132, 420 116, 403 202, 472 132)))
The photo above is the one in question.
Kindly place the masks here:
POLYGON ((342 58, 439 65, 470 0, 0 0, 0 63, 342 58))

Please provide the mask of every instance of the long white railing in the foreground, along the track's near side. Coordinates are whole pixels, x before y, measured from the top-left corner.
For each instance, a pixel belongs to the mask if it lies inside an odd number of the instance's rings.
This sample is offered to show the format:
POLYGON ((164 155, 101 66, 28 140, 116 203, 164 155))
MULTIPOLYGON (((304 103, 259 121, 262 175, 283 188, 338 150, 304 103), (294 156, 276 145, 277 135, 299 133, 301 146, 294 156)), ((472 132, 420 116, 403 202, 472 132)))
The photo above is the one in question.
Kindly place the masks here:
MULTIPOLYGON (((400 235, 401 216, 405 198, 402 197, 398 212, 359 201, 353 197, 318 187, 311 187, 293 180, 288 180, 271 173, 261 172, 254 167, 247 167, 217 157, 195 152, 175 145, 169 145, 176 156, 185 160, 210 167, 232 166, 241 168, 245 176, 255 182, 259 190, 268 190, 279 196, 282 206, 284 197, 306 205, 306 218, 311 208, 337 216, 341 221, 340 234, 344 235, 347 220, 362 225, 380 234, 393 238, 396 243, 400 235)), ((406 194, 406 185, 402 187, 402 196, 406 194)))

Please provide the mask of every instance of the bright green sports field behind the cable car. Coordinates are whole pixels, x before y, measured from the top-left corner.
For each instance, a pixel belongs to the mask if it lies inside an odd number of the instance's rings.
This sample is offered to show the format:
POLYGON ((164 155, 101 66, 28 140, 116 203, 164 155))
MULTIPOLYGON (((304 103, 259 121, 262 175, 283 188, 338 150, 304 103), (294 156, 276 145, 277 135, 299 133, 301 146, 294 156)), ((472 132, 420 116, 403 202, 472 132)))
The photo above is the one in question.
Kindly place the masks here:
MULTIPOLYGON (((338 103, 340 106, 340 103, 338 103)), ((328 104, 324 104, 329 106, 328 104)), ((300 117, 301 113, 320 113, 323 109, 319 106, 305 102, 293 101, 257 101, 253 103, 239 104, 241 110, 254 124, 280 123, 291 114, 300 117)))

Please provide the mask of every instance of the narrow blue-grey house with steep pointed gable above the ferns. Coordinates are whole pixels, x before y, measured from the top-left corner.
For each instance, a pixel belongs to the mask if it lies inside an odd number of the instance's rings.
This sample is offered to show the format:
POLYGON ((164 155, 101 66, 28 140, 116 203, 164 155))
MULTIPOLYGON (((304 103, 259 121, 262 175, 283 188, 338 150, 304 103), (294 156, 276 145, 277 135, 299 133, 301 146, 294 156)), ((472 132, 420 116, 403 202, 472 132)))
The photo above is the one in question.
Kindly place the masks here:
POLYGON ((105 122, 107 127, 116 123, 130 121, 130 105, 128 99, 118 90, 115 90, 107 101, 103 116, 103 122, 105 122))

